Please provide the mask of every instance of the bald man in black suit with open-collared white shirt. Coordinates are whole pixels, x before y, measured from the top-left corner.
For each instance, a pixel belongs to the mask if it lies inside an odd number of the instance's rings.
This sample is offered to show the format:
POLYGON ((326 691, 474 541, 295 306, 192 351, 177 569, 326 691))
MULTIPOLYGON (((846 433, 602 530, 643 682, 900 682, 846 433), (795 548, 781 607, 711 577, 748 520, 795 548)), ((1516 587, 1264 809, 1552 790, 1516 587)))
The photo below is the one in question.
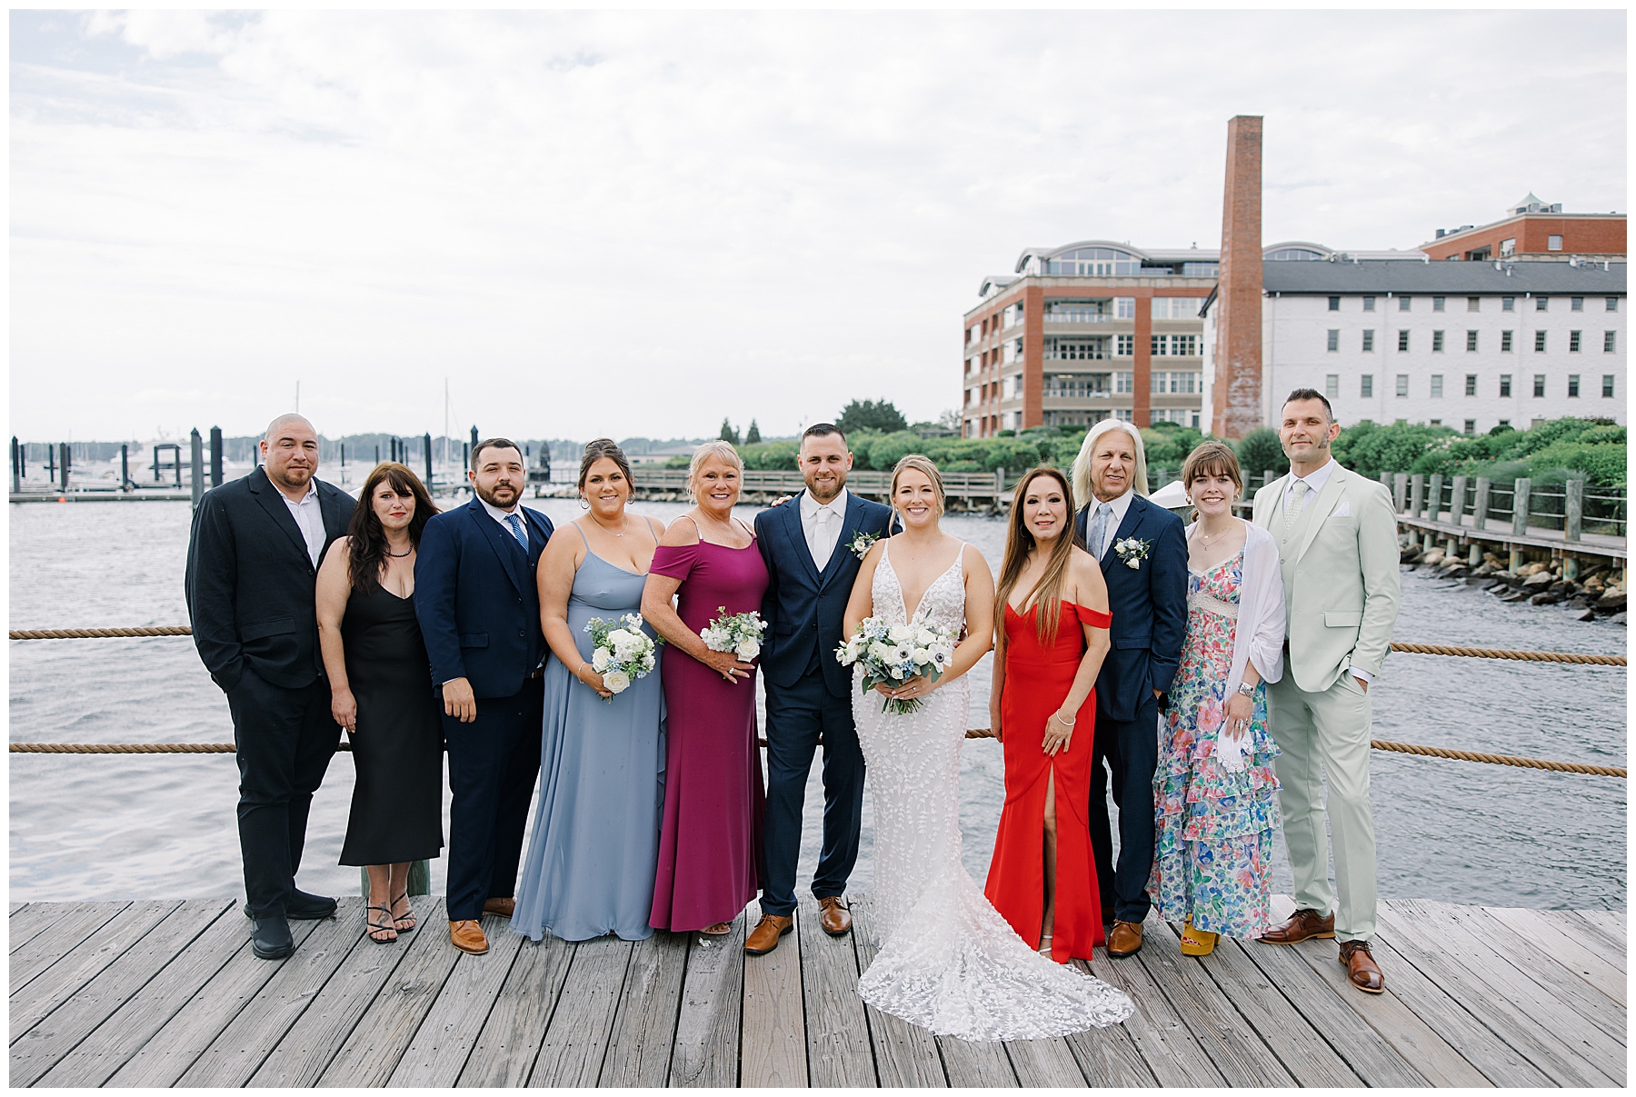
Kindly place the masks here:
POLYGON ((314 584, 353 500, 317 472, 317 433, 280 415, 262 468, 200 500, 188 543, 193 646, 227 695, 239 759, 239 850, 250 947, 294 950, 286 919, 319 919, 335 901, 294 884, 312 793, 340 742, 317 647, 314 584))

